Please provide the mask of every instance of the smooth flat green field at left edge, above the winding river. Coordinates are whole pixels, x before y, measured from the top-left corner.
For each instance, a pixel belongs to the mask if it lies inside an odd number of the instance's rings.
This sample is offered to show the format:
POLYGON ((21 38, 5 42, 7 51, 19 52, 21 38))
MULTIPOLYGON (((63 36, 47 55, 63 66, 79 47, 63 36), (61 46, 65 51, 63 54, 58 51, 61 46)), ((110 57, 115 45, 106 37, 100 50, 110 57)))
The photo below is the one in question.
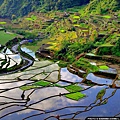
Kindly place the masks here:
POLYGON ((4 31, 0 31, 0 44, 5 45, 9 40, 12 40, 16 36, 16 34, 8 34, 4 31))

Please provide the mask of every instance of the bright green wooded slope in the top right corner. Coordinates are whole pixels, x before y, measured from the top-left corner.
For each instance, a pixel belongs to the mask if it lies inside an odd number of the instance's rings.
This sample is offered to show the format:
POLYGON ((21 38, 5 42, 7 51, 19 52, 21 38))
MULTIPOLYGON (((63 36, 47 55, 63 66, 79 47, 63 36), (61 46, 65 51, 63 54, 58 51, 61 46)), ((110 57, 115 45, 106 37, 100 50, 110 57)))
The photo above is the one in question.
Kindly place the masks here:
POLYGON ((120 1, 119 0, 91 0, 80 12, 83 12, 83 16, 89 16, 90 14, 111 14, 119 13, 120 1))

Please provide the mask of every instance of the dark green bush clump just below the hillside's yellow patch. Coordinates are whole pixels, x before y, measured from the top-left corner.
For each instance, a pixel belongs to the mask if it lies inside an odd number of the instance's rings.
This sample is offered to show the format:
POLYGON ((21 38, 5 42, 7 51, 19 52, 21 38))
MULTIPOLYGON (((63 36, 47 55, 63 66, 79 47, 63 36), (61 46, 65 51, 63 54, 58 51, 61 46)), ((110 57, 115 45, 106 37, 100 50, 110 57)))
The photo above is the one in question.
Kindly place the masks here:
POLYGON ((83 52, 88 52, 93 48, 93 42, 81 44, 79 42, 70 43, 69 41, 63 41, 61 50, 55 53, 55 58, 66 60, 72 63, 75 61, 77 55, 83 52))

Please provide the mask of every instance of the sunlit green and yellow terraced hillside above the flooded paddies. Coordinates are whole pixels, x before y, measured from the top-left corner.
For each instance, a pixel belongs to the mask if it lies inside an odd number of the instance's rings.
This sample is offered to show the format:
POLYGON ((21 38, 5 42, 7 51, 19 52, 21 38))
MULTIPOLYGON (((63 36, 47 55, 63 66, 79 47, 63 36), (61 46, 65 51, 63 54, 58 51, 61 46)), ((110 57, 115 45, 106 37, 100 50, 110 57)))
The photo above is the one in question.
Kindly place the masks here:
POLYGON ((85 6, 67 8, 66 12, 31 12, 3 26, 27 39, 38 37, 38 41, 27 45, 35 52, 43 43, 50 44, 56 54, 68 47, 62 58, 67 61, 74 61, 82 52, 120 56, 119 5, 117 0, 91 0, 85 6))

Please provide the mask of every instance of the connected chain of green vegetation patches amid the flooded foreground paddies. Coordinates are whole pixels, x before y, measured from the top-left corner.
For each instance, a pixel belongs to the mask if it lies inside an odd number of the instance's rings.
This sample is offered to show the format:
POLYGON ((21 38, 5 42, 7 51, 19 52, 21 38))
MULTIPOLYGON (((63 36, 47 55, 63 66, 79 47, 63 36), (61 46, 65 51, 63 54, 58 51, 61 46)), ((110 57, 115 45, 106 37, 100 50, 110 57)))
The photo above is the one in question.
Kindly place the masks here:
POLYGON ((76 85, 68 85, 68 86, 61 86, 59 84, 51 84, 50 82, 44 81, 44 80, 40 80, 38 82, 33 83, 32 85, 26 85, 26 86, 22 86, 20 87, 21 90, 30 90, 30 89, 38 89, 39 87, 60 87, 60 88, 64 88, 67 91, 69 91, 70 93, 66 93, 65 97, 72 99, 72 100, 76 100, 78 101, 81 98, 86 97, 85 94, 82 94, 80 91, 83 90, 82 87, 76 85))

